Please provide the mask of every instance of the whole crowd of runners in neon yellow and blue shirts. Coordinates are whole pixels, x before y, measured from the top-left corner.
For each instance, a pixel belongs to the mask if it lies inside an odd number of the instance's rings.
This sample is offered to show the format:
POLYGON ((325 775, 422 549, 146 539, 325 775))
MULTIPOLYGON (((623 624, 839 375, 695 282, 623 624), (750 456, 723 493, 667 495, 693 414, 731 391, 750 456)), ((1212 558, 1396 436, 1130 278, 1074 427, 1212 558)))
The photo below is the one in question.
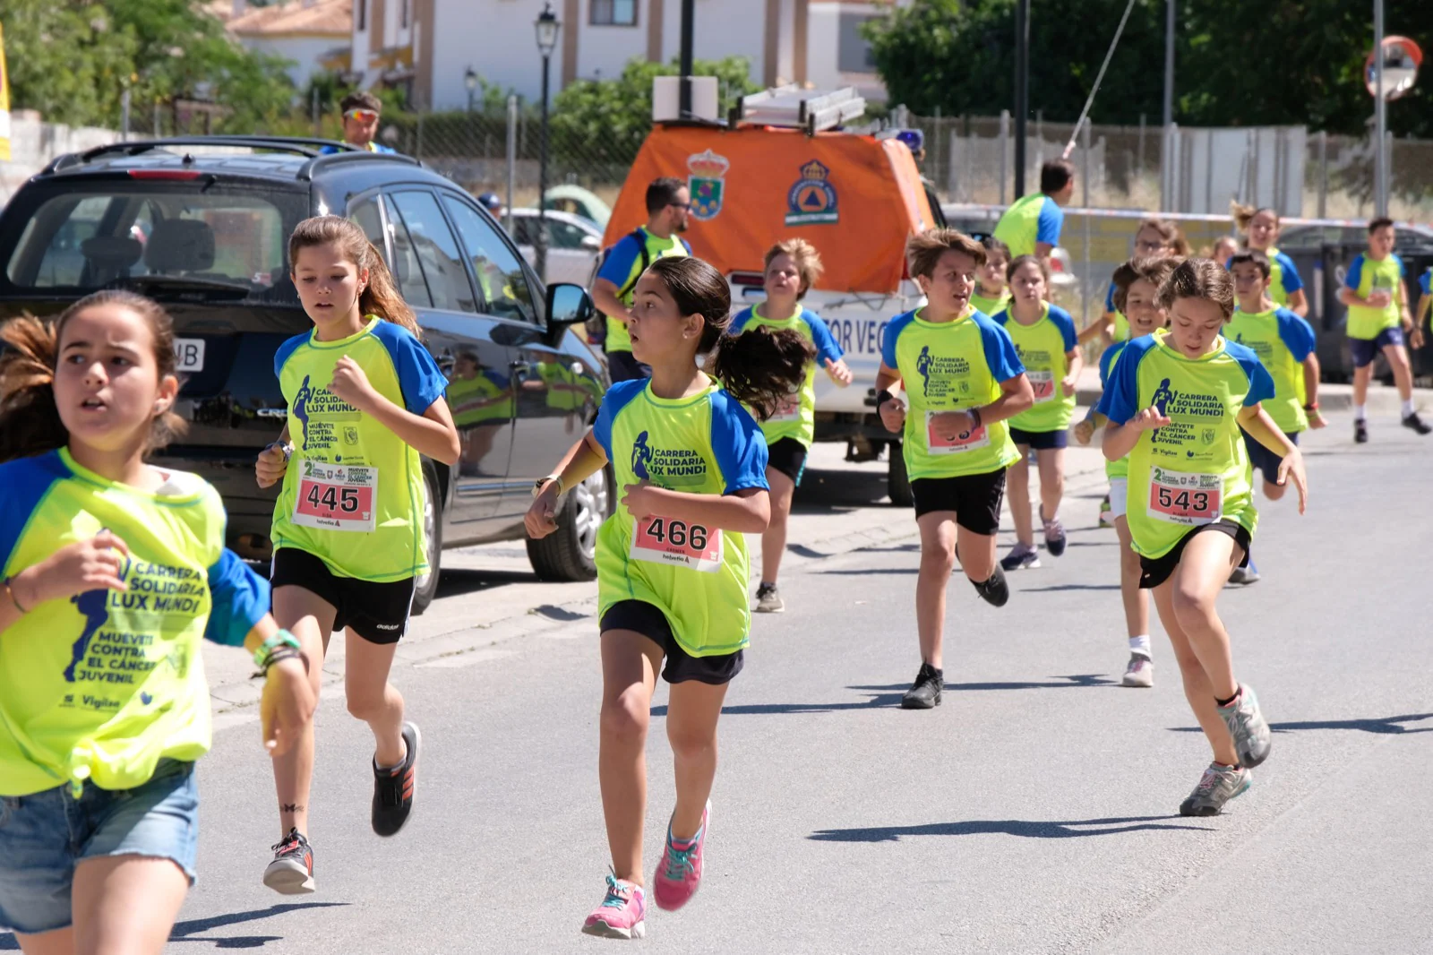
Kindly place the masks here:
MULTIPOLYGON (((678 909, 702 879, 716 724, 749 642, 744 535, 762 535, 755 609, 782 611, 777 575, 813 440, 815 376, 851 381, 825 324, 801 304, 821 272, 818 251, 797 238, 770 248, 765 301, 732 314, 727 280, 676 237, 685 192, 679 181, 653 184, 652 228, 610 260, 602 298, 631 353, 623 380, 533 489, 526 518, 533 538, 552 533, 566 489, 612 467, 620 500, 596 551, 612 873, 582 929, 618 938, 645 932, 643 753, 656 680, 671 684, 676 803, 651 892, 678 909)), ((1032 222, 1037 215, 1032 205, 1032 222)), ((931 708, 944 688, 957 564, 980 598, 1003 607, 1006 572, 1039 566, 1035 513, 1046 553, 1065 552, 1063 450, 1080 344, 1108 343, 1102 397, 1073 434, 1086 445, 1098 436, 1108 459, 1123 683, 1152 685, 1152 595, 1212 750, 1185 814, 1218 813, 1270 754, 1217 597, 1231 574, 1251 571, 1255 483, 1270 500, 1293 485, 1303 512, 1298 434, 1324 426, 1307 301, 1275 247, 1278 217, 1241 209, 1240 225, 1245 244, 1215 260, 1187 257, 1174 225, 1141 222, 1108 314, 1085 331, 1049 301, 1048 242, 1012 255, 995 237, 916 235, 906 252, 926 304, 888 323, 876 383, 920 533, 920 670, 901 707, 931 708), (1002 558, 1007 483, 1016 543, 1002 558)), ((1404 426, 1430 430, 1412 404, 1406 340, 1422 334, 1393 237, 1387 219, 1370 222, 1340 295, 1358 442, 1369 439, 1364 394, 1379 354, 1404 426)), ((279 819, 265 885, 317 888, 312 714, 335 629, 347 634, 347 707, 374 734, 373 830, 393 836, 411 812, 421 736, 388 671, 414 578, 427 571, 420 457, 453 463, 459 434, 444 376, 363 231, 338 217, 307 219, 288 258, 314 327, 274 361, 288 420, 255 467, 261 486, 281 486, 267 581, 224 548, 214 488, 148 463, 182 430, 162 307, 103 291, 56 321, 0 330, 0 923, 30 955, 162 951, 195 872, 193 764, 211 744, 205 638, 244 645, 265 674, 262 740, 279 819), (348 424, 341 442, 335 413, 348 424)), ((1427 277, 1423 290, 1420 321, 1427 277)))

